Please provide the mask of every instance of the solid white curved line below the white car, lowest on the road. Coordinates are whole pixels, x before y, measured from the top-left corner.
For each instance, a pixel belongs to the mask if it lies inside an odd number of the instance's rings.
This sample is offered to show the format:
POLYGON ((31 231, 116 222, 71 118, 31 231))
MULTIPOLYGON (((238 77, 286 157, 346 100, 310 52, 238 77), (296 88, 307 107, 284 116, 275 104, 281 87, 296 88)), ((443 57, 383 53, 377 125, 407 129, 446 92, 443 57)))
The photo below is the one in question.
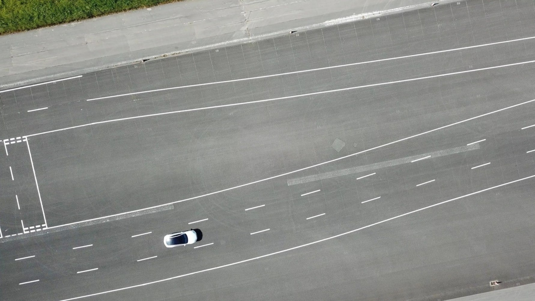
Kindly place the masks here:
POLYGON ((432 208, 432 207, 435 207, 435 206, 446 204, 448 202, 455 201, 455 200, 458 200, 458 199, 470 197, 471 195, 474 195, 474 194, 478 194, 478 193, 482 193, 482 192, 485 192, 485 191, 488 191, 488 190, 496 189, 498 187, 506 186, 506 185, 513 184, 513 183, 516 183, 516 182, 520 182, 520 181, 523 181, 523 180, 526 180, 526 179, 530 179, 530 178, 533 178, 533 177, 535 177, 535 175, 532 175, 532 176, 529 176, 529 177, 525 177, 525 178, 521 178, 521 179, 516 179, 516 180, 513 180, 511 182, 503 183, 503 184, 500 184, 500 185, 489 187, 489 188, 486 188, 486 189, 483 189, 483 190, 479 190, 479 191, 476 191, 476 192, 472 192, 472 193, 469 193, 469 194, 461 195, 460 197, 456 197, 456 198, 449 199, 449 200, 446 200, 446 201, 438 202, 437 204, 433 204, 433 205, 430 205, 430 206, 427 206, 427 207, 423 207, 423 208, 419 208, 419 209, 416 209, 416 210, 412 210, 410 212, 403 213, 403 214, 400 214, 400 215, 397 215, 397 216, 394 216, 394 217, 390 217, 389 219, 382 220, 380 222, 376 222, 376 223, 372 223, 372 224, 369 224, 369 225, 365 225, 364 227, 361 227, 361 228, 357 228, 357 229, 354 229, 354 230, 351 230, 351 231, 347 231, 347 232, 344 232, 344 233, 341 233, 341 234, 338 234, 338 235, 334 235, 334 236, 331 236, 331 237, 319 239, 319 240, 316 240, 314 242, 306 243, 306 244, 303 244, 303 245, 291 247, 291 248, 288 248, 288 249, 285 249, 285 250, 280 250, 280 251, 277 251, 277 252, 264 254, 264 255, 261 255, 261 256, 258 256, 258 257, 253 257, 253 258, 249 258, 249 259, 244 259, 244 260, 240 260, 240 261, 231 262, 230 264, 226 264, 226 265, 221 265, 221 266, 216 266, 216 267, 212 267, 212 268, 197 270, 195 272, 191 272, 191 273, 187 273, 187 274, 182 274, 182 275, 173 276, 173 277, 160 279, 160 280, 156 280, 156 281, 151 281, 151 282, 146 282, 146 283, 140 283, 140 284, 132 285, 130 287, 123 287, 123 288, 118 288, 118 289, 113 289, 113 290, 95 292, 93 294, 83 295, 83 296, 78 296, 78 297, 73 297, 73 298, 68 298, 68 299, 63 299, 63 300, 59 300, 59 301, 70 301, 70 300, 75 300, 75 299, 81 299, 81 298, 93 297, 93 296, 98 296, 98 295, 103 295, 103 294, 109 294, 110 292, 116 292, 116 291, 133 289, 133 288, 139 288, 139 287, 143 287, 145 285, 150 285, 150 284, 170 281, 170 280, 174 280, 174 279, 179 279, 179 278, 186 277, 186 276, 196 275, 196 274, 200 274, 200 273, 204 273, 204 272, 209 272, 211 270, 216 270, 216 269, 221 269, 221 268, 225 268, 225 267, 235 266, 235 265, 238 265, 238 264, 243 264, 244 262, 258 260, 258 259, 261 259, 261 258, 270 257, 270 256, 273 256, 273 255, 277 255, 277 254, 293 251, 293 250, 296 250, 296 249, 301 249, 302 247, 305 247, 305 246, 310 246, 310 245, 322 243, 322 242, 325 242, 327 240, 331 240, 331 239, 334 239, 334 238, 337 238, 337 237, 340 237, 340 236, 345 236, 345 235, 351 234, 353 232, 357 232, 357 231, 360 231, 360 230, 363 230, 363 229, 366 229, 366 228, 373 227, 373 226, 378 225, 378 224, 382 224, 382 223, 385 223, 385 222, 388 222, 388 221, 399 219, 400 217, 403 217, 403 216, 406 216, 406 215, 409 215, 409 214, 412 214, 412 213, 420 212, 420 211, 425 210, 425 209, 429 209, 429 208, 432 208))

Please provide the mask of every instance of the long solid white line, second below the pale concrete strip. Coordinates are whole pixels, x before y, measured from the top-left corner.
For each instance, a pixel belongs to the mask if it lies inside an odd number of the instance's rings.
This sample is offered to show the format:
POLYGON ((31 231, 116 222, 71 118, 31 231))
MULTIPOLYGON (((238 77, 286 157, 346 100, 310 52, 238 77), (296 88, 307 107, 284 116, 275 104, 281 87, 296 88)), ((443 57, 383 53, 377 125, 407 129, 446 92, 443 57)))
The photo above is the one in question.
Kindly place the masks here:
MULTIPOLYGON (((161 113, 155 113, 155 114, 149 114, 149 115, 141 115, 141 116, 118 118, 118 119, 110 119, 110 120, 106 120, 106 121, 98 121, 98 122, 92 122, 92 123, 87 123, 87 124, 80 124, 80 125, 65 127, 63 129, 57 129, 57 130, 51 130, 51 131, 46 131, 46 132, 41 132, 41 133, 36 133, 36 134, 30 134, 30 135, 27 135, 26 137, 32 137, 32 136, 37 136, 37 135, 42 135, 42 134, 47 134, 47 133, 53 133, 53 132, 77 129, 78 127, 89 126, 89 125, 104 124, 104 123, 124 121, 124 120, 130 120, 130 119, 139 119, 139 118, 152 117, 152 116, 163 116, 163 115, 177 114, 177 113, 182 113, 182 112, 193 112, 193 111, 209 110, 209 109, 216 109, 216 108, 236 107, 236 106, 242 106, 244 104, 251 104, 251 103, 262 103, 262 102, 271 102, 271 101, 276 101, 276 100, 295 99, 297 97, 320 95, 320 94, 327 94, 327 93, 334 93, 334 92, 341 92, 341 91, 350 91, 350 90, 353 90, 353 89, 377 87, 377 86, 382 86, 382 85, 400 84, 402 82, 410 82, 410 81, 416 81, 416 80, 422 80, 422 79, 431 79, 431 78, 452 76, 452 75, 456 75, 456 74, 463 74, 463 73, 469 73, 469 72, 478 72, 478 71, 484 71, 484 70, 492 70, 492 69, 497 69, 497 68, 510 67, 510 66, 516 66, 516 65, 524 65, 524 64, 530 64, 530 63, 535 63, 535 60, 519 62, 519 63, 511 63, 511 64, 500 65, 500 66, 485 67, 485 68, 480 68, 480 69, 472 69, 472 70, 458 71, 458 72, 452 72, 452 73, 437 74, 437 75, 434 75, 434 76, 426 76, 426 77, 419 77, 419 78, 409 78, 409 79, 402 79, 402 80, 395 80, 395 81, 388 81, 388 82, 379 82, 378 84, 369 84, 369 85, 364 85, 364 86, 340 88, 340 89, 312 92, 312 93, 306 93, 306 94, 300 94, 300 95, 282 96, 282 97, 276 97, 276 98, 272 98, 272 99, 263 99, 263 100, 255 100, 255 101, 239 102, 239 103, 229 103, 229 104, 221 104, 219 106, 184 109, 184 110, 161 112, 161 113)), ((340 158, 338 158, 338 159, 340 159, 340 158)))

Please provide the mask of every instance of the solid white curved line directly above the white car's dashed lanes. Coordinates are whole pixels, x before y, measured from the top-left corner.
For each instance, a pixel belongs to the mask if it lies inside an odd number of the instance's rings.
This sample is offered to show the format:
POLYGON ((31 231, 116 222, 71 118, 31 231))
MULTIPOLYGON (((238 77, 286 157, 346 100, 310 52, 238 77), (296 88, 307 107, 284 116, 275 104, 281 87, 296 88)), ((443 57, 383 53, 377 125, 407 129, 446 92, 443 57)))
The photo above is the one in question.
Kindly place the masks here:
MULTIPOLYGON (((179 202, 185 202, 185 201, 189 201, 189 200, 208 197, 209 195, 213 195, 213 194, 217 194, 217 193, 221 193, 221 192, 225 192, 225 191, 230 191, 230 190, 233 190, 233 189, 238 189, 240 187, 249 186, 249 185, 253 185, 253 184, 256 184, 256 183, 265 182, 265 181, 268 181, 268 180, 271 180, 271 179, 276 179, 276 178, 284 177, 284 176, 287 176, 287 175, 295 174, 296 172, 300 172, 300 171, 303 171, 303 170, 307 170, 307 169, 315 168, 315 167, 318 167, 318 166, 321 166, 321 165, 325 165, 325 164, 328 164, 328 163, 340 161, 340 160, 346 159, 348 157, 352 157, 352 156, 355 156, 355 155, 360 155, 360 154, 363 154, 363 153, 366 153, 366 152, 370 152, 370 151, 373 151, 373 150, 381 148, 381 147, 385 147, 385 146, 388 146, 388 145, 396 144, 398 142, 402 142, 402 141, 409 140, 409 139, 412 139, 412 138, 415 138, 415 137, 419 137, 419 136, 422 136, 422 135, 425 135, 425 134, 429 134, 429 133, 432 133, 432 132, 435 132, 435 131, 446 129, 447 127, 450 127, 450 126, 454 126, 454 125, 457 125, 457 124, 461 124, 461 123, 465 123, 465 122, 468 122, 468 121, 472 121, 472 120, 477 119, 477 118, 485 117, 485 116, 488 116, 488 115, 491 115, 491 114, 495 114, 497 112, 501 112, 501 111, 504 111, 504 110, 507 110, 507 109, 512 109, 512 108, 515 108, 515 107, 518 107, 518 106, 522 106, 523 104, 528 104, 528 103, 531 103, 531 102, 534 102, 534 101, 535 101, 535 99, 532 99, 532 100, 524 101, 524 102, 521 102, 521 103, 513 104, 512 106, 509 106, 509 107, 501 108, 501 109, 498 109, 498 110, 487 112, 485 114, 481 114, 481 115, 478 115, 478 116, 474 116, 474 117, 470 117, 470 118, 467 118, 467 119, 463 119, 462 121, 457 121, 457 122, 454 122, 454 123, 443 125, 443 126, 435 128, 435 129, 432 129, 432 130, 429 130, 429 131, 425 131, 425 132, 422 132, 422 133, 418 133, 418 134, 414 134, 412 136, 401 138, 401 139, 398 139, 398 140, 395 140, 395 141, 392 141, 392 142, 388 142, 388 143, 383 144, 383 145, 375 146, 375 147, 372 147, 372 148, 369 148, 369 149, 364 149, 364 151, 360 151, 360 152, 357 152, 357 153, 349 154, 349 155, 346 155, 346 156, 341 156, 341 157, 338 157, 336 159, 320 162, 320 163, 317 163, 317 164, 314 164, 314 165, 310 165, 308 167, 303 167, 303 168, 300 168, 300 169, 288 171, 288 172, 285 172, 284 174, 280 174, 280 175, 275 175, 275 176, 268 177, 268 178, 259 179, 259 180, 256 180, 256 181, 253 181, 253 182, 249 182, 249 183, 246 183, 246 184, 241 184, 241 185, 238 185, 238 186, 229 187, 229 188, 218 190, 218 191, 213 191, 213 192, 210 192, 210 193, 197 195, 196 197, 191 197, 191 198, 187 198, 187 199, 173 201, 173 202, 169 202, 169 203, 166 203, 166 204, 161 204, 161 205, 151 206, 151 207, 147 207, 147 208, 136 209, 136 210, 123 212, 123 213, 116 213, 116 214, 111 214, 111 215, 106 215, 106 216, 101 216, 101 217, 95 217, 94 219, 88 219, 88 220, 72 222, 72 223, 67 223, 67 224, 62 224, 62 225, 55 225, 55 226, 52 226, 52 227, 48 227, 47 229, 65 227, 65 226, 68 226, 68 225, 86 223, 86 222, 95 221, 95 220, 109 219, 110 217, 113 217, 113 216, 131 214, 131 213, 139 212, 139 211, 142 211, 142 210, 153 209, 153 208, 158 208, 158 207, 163 207, 163 206, 169 206, 169 205, 172 205, 172 204, 177 204, 179 202)), ((55 132, 55 131, 49 131, 49 132, 55 132)), ((44 133, 48 133, 48 132, 44 132, 44 133)), ((36 135, 39 135, 39 134, 33 134, 33 135, 29 135, 29 136, 36 136, 36 135)))

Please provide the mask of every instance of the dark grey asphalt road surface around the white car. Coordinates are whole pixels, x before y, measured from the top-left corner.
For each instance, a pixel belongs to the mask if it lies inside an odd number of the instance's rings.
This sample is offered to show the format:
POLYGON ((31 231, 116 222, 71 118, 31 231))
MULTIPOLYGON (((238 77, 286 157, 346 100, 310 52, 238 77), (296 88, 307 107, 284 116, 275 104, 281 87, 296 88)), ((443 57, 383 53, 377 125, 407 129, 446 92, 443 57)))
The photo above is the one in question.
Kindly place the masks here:
POLYGON ((534 51, 474 0, 0 91, 0 299, 532 283, 534 51))

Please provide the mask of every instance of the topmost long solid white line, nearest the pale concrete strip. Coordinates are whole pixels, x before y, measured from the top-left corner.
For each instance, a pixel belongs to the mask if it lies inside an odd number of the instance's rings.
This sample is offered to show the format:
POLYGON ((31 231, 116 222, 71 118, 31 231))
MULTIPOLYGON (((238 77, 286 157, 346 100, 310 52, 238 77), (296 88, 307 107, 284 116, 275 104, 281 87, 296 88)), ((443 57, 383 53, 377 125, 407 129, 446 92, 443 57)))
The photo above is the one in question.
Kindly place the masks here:
POLYGON ((470 49, 470 48, 492 46, 492 45, 501 44, 501 43, 524 41, 524 40, 529 40, 529 39, 534 39, 534 38, 535 38, 535 36, 523 37, 521 39, 506 40, 506 41, 501 41, 501 42, 479 44, 479 45, 475 45, 475 46, 467 46, 467 47, 439 50, 439 51, 432 51, 432 52, 424 52, 424 53, 421 53, 421 54, 404 55, 404 56, 391 57, 391 58, 380 58, 380 59, 374 59, 373 61, 366 61, 366 62, 349 63, 349 64, 343 64, 343 65, 336 65, 336 66, 328 66, 328 67, 320 67, 320 68, 315 68, 315 69, 308 69, 308 70, 299 70, 299 71, 292 71, 292 72, 285 72, 285 73, 269 74, 269 75, 266 75, 266 76, 257 76, 257 77, 249 77, 249 78, 240 78, 240 79, 231 79, 231 80, 223 80, 223 81, 215 81, 215 82, 206 82, 204 84, 178 86, 178 87, 154 89, 154 90, 126 93, 126 94, 119 94, 119 95, 111 95, 111 96, 104 96, 104 97, 97 97, 97 98, 93 98, 93 99, 88 99, 87 101, 109 99, 109 98, 113 98, 113 97, 121 97, 121 96, 128 96, 128 95, 134 95, 134 94, 159 92, 159 91, 166 91, 166 90, 172 90, 172 89, 181 89, 181 88, 190 88, 190 87, 198 87, 198 86, 226 84, 228 82, 236 82, 236 81, 244 81, 244 80, 255 80, 255 79, 270 78, 270 77, 277 77, 277 76, 287 76, 287 75, 290 75, 290 74, 299 74, 299 73, 304 73, 304 72, 314 72, 314 71, 334 69, 334 68, 347 67, 347 66, 355 66, 355 65, 362 65, 362 64, 386 62, 386 61, 392 61, 394 59, 402 59, 402 58, 411 58, 411 57, 418 57, 418 56, 424 56, 424 55, 440 54, 440 53, 449 52, 449 51, 458 51, 458 50, 464 50, 464 49, 470 49))

